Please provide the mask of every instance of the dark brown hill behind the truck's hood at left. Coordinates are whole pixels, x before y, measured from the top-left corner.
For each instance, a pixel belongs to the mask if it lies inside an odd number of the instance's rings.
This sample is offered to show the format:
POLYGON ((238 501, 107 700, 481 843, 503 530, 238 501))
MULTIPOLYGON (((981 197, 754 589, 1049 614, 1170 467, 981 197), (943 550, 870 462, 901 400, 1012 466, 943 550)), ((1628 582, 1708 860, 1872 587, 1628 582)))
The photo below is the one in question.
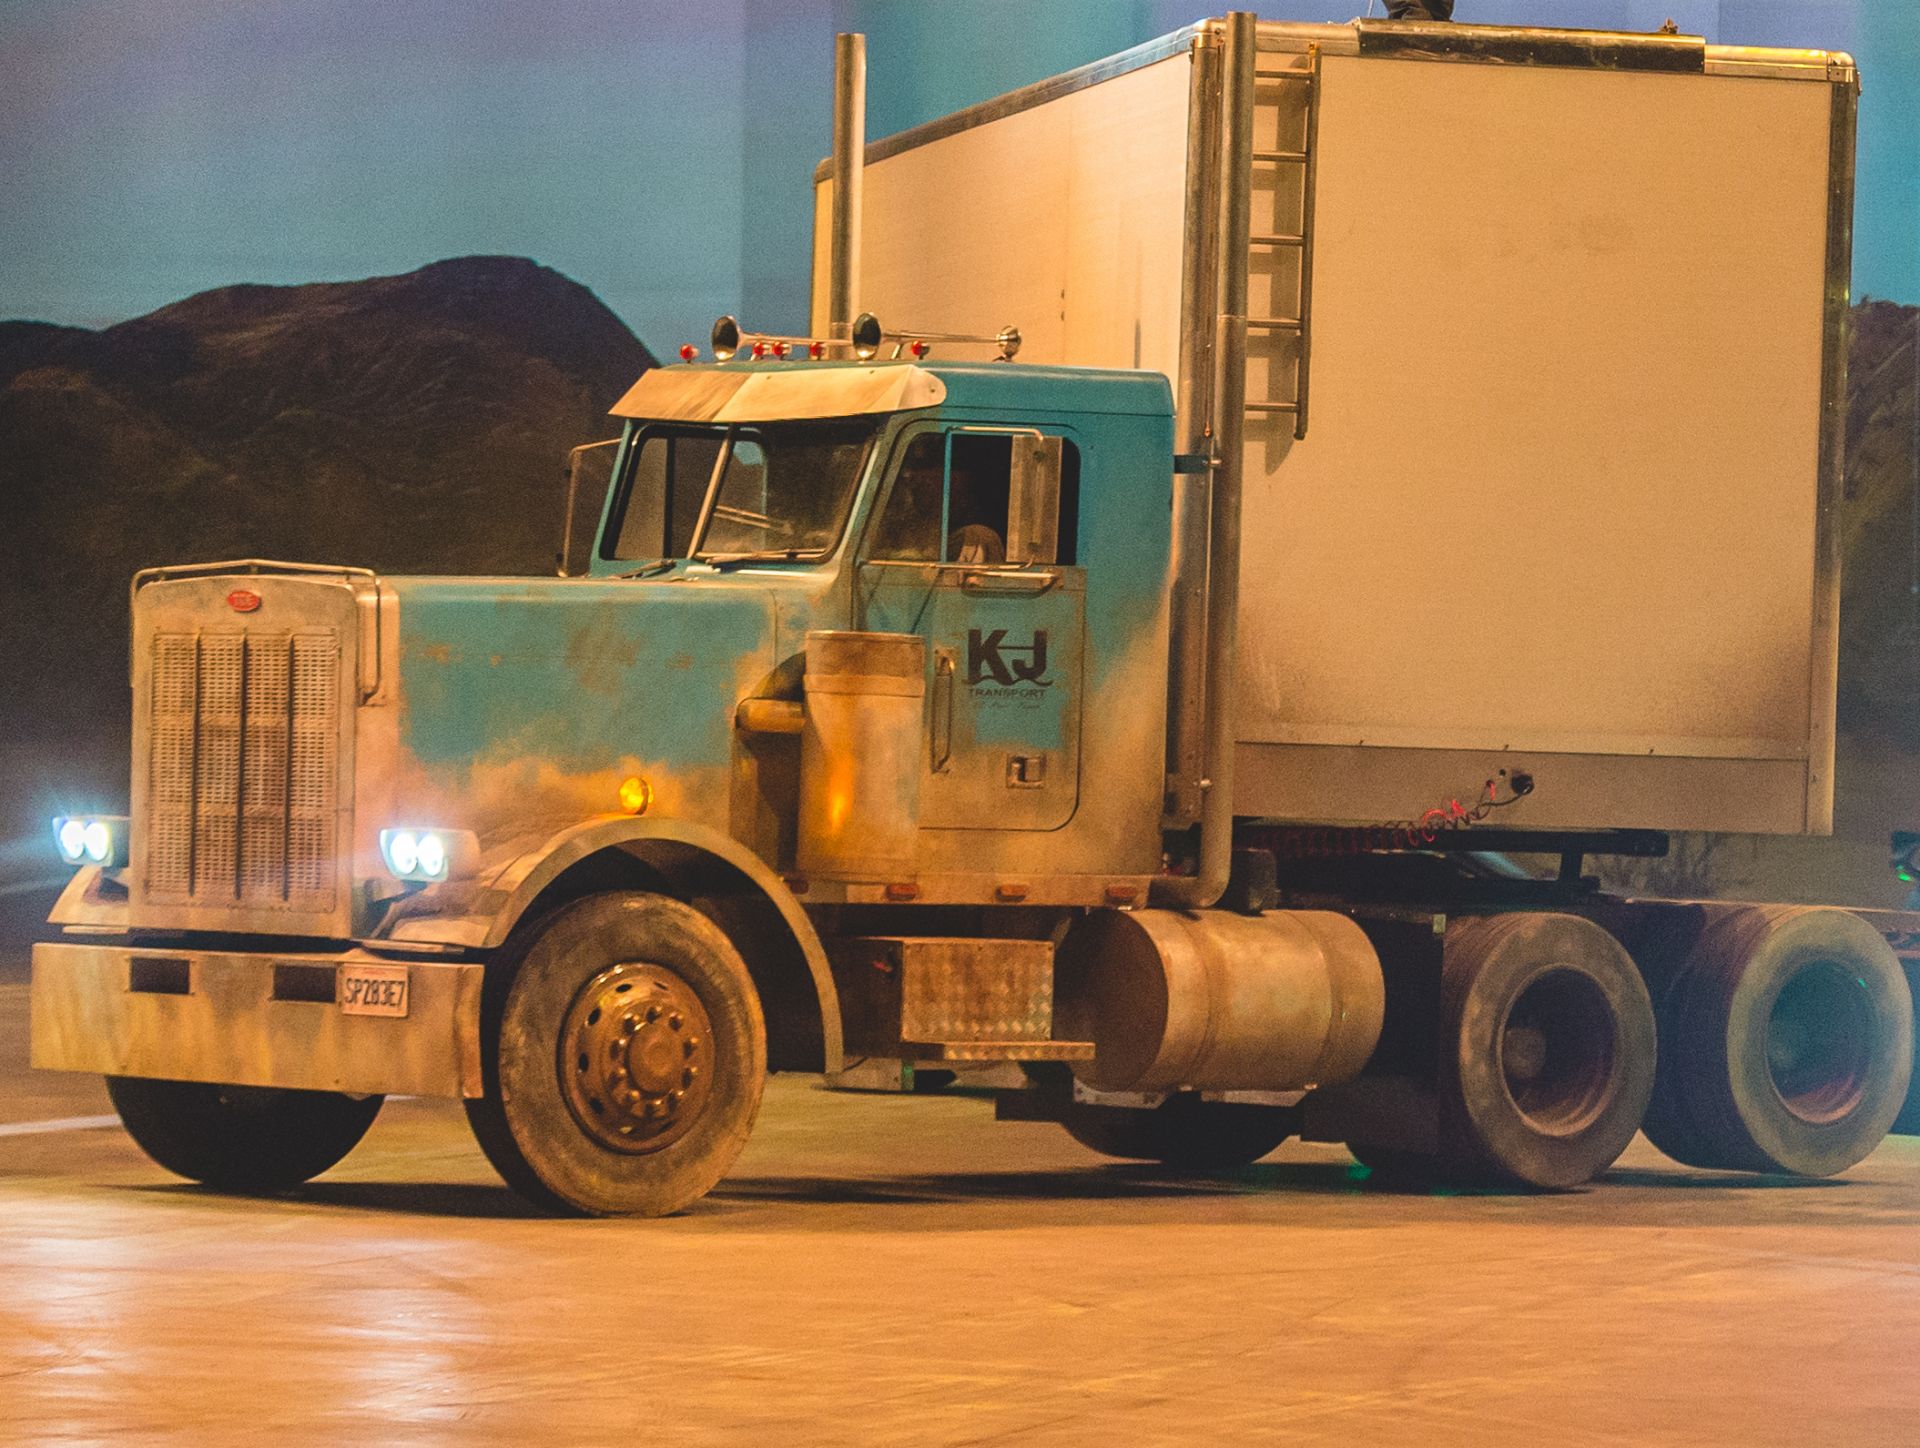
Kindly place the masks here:
POLYGON ((651 365, 520 257, 227 286, 100 332, 0 323, 0 839, 125 807, 136 568, 547 572, 564 453, 651 365))

